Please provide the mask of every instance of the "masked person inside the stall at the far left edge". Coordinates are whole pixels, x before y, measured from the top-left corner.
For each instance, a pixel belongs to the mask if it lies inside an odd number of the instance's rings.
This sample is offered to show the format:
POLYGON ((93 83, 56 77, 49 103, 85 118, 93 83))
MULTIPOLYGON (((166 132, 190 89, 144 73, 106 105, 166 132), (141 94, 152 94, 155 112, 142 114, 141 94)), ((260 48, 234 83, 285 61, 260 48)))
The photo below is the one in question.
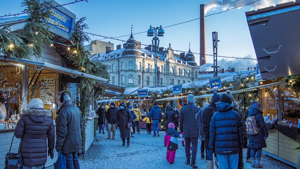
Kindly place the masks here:
POLYGON ((10 115, 13 115, 13 110, 8 104, 8 94, 0 94, 0 119, 9 119, 10 115))

